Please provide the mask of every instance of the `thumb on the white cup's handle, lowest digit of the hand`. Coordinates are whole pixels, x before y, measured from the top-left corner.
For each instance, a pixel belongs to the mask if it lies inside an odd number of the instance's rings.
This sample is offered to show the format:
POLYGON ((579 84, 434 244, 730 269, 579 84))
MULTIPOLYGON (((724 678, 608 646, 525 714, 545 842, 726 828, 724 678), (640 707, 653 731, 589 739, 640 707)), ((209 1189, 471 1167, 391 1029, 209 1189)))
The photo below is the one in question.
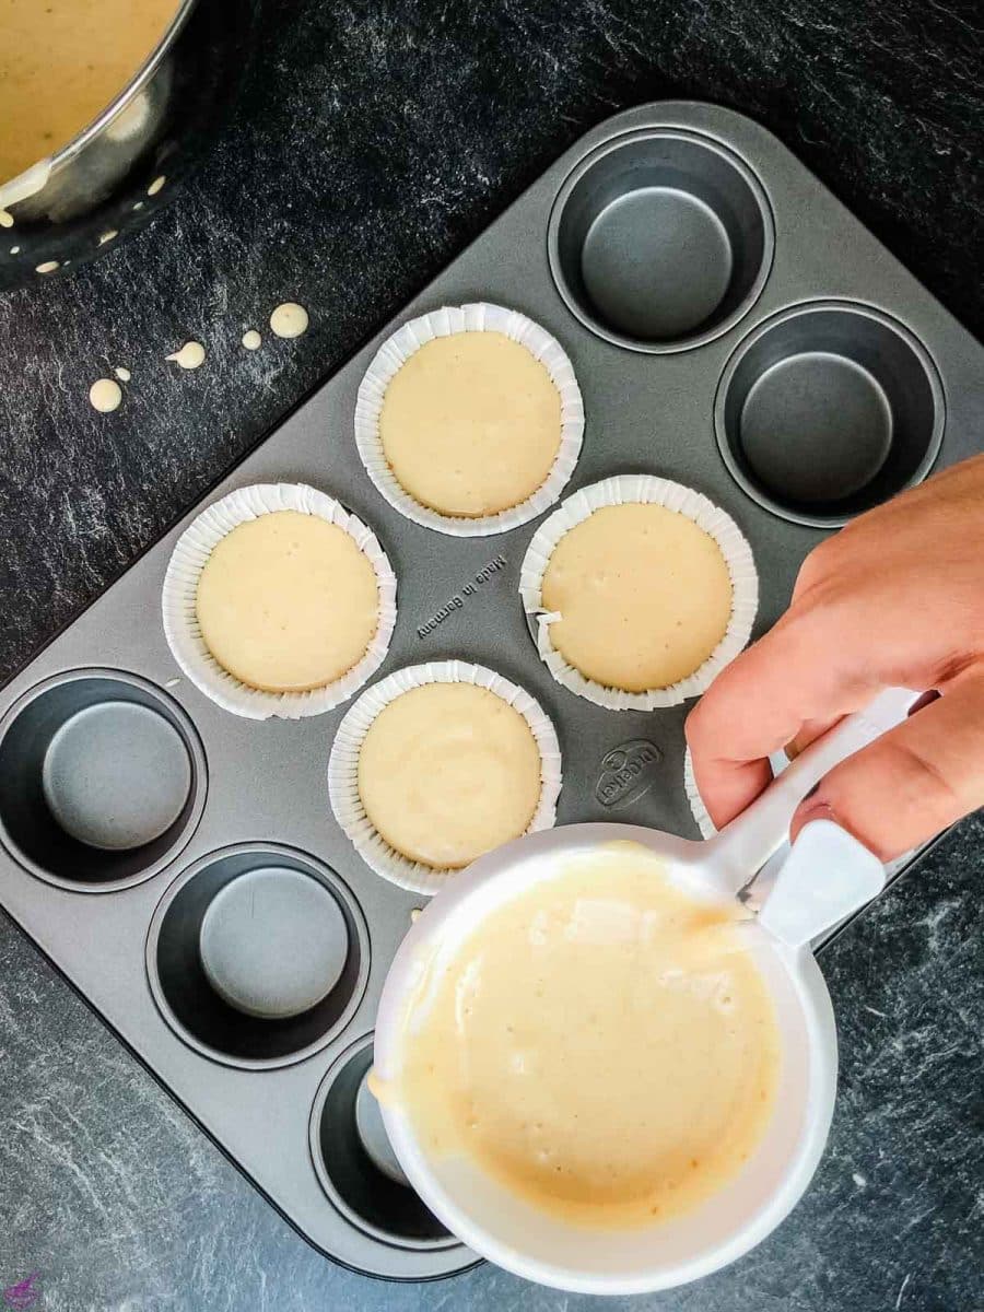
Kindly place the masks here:
POLYGON ((800 803, 795 837, 836 820, 882 861, 984 806, 984 674, 964 676, 904 724, 836 766, 800 803))

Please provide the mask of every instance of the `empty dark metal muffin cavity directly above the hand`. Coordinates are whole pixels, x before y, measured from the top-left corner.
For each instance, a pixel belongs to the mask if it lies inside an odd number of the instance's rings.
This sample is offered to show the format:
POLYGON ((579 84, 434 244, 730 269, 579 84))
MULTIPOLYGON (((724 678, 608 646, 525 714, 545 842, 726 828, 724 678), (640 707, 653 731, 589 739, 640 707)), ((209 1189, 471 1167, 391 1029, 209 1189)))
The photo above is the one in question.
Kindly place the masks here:
POLYGON ((736 482, 785 520, 845 523, 921 482, 943 394, 920 341, 867 306, 817 302, 761 324, 722 377, 718 445, 736 482))

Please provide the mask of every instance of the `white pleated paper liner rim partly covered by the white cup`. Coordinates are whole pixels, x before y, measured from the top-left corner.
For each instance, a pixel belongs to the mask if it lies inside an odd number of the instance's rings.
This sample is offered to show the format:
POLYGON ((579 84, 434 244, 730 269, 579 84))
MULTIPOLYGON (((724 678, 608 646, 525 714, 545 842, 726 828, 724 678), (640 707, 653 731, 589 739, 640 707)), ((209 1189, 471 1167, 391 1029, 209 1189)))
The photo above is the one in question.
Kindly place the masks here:
POLYGON ((437 870, 420 861, 411 861, 396 851, 379 834, 366 815, 358 792, 358 758, 369 727, 377 715, 403 693, 425 684, 474 684, 485 687, 514 707, 530 727, 541 760, 541 791, 537 810, 526 833, 550 829, 556 819, 556 799, 560 792, 560 745, 550 716, 529 693, 484 665, 467 661, 429 661, 398 669, 359 697, 346 711, 335 736, 328 760, 328 795, 335 817, 353 846, 377 874, 392 880, 400 888, 430 896, 455 869, 437 870))

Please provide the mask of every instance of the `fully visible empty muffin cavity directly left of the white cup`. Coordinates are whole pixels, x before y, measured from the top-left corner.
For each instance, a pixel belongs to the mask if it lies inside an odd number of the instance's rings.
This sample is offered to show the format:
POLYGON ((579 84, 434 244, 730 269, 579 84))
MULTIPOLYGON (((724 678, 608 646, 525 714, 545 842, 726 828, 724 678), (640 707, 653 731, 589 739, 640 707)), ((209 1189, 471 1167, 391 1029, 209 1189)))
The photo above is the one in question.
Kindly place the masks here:
POLYGON ((369 935, 325 865, 273 844, 197 861, 168 888, 147 939, 155 1000, 192 1047, 252 1069, 324 1047, 358 1006, 369 935))

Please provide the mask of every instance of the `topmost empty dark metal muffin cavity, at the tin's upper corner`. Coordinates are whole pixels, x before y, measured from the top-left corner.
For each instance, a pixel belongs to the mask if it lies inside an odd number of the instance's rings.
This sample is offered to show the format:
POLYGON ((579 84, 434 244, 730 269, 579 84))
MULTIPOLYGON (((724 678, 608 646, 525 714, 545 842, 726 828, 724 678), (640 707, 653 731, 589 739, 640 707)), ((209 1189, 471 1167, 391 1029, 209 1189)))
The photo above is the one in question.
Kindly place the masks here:
POLYGON ((774 228, 733 152, 697 133, 644 129, 573 169, 550 219, 554 279, 598 336, 632 350, 702 345, 760 295, 774 228))

